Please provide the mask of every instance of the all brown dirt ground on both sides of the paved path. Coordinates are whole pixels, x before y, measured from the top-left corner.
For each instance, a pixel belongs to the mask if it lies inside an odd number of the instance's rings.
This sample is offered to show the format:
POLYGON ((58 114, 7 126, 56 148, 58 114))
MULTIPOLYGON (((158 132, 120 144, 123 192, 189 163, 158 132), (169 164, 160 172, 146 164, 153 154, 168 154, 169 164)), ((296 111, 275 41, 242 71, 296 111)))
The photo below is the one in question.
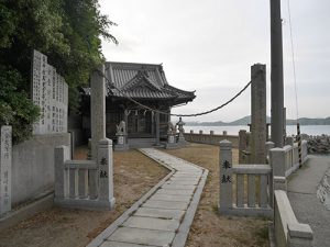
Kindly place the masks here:
MULTIPOLYGON (((164 149, 162 149, 164 150, 164 149)), ((209 177, 188 236, 187 247, 268 246, 267 222, 260 218, 226 217, 217 213, 219 197, 219 147, 190 144, 166 150, 209 169, 209 177)), ((238 150, 233 150, 238 162, 238 150)), ((76 159, 85 159, 86 148, 76 159)), ((142 154, 114 153, 114 192, 117 205, 111 212, 91 212, 53 207, 0 233, 0 247, 80 247, 119 217, 168 171, 142 154)))

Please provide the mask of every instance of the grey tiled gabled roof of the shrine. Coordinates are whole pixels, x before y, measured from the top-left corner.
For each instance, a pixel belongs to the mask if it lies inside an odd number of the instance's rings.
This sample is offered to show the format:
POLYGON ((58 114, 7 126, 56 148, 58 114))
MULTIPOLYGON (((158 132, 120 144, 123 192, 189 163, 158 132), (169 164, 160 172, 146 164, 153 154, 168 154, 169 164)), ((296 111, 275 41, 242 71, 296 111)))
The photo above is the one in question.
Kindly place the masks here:
MULTIPOLYGON (((193 101, 196 97, 195 91, 169 86, 162 65, 107 61, 106 77, 108 96, 113 98, 168 100, 174 105, 193 101)), ((84 91, 89 94, 90 89, 84 91)))

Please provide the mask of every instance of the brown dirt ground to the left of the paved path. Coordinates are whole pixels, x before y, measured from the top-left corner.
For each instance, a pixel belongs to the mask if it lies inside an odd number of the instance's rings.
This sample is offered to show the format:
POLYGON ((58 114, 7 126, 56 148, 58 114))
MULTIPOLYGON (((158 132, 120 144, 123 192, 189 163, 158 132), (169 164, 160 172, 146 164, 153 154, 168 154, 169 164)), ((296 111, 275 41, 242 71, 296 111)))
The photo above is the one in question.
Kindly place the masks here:
MULTIPOLYGON (((75 158, 85 159, 86 148, 75 158)), ((116 207, 111 212, 53 207, 0 233, 1 247, 82 247, 107 228, 168 170, 135 150, 114 151, 116 207)))

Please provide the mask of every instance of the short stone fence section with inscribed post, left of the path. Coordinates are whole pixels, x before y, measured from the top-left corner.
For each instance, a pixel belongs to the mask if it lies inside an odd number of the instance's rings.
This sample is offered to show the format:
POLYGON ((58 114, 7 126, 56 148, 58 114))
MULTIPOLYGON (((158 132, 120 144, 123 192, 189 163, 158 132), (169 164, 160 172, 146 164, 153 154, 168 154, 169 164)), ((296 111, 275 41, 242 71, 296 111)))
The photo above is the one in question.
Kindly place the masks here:
POLYGON ((69 147, 55 148, 54 203, 74 209, 114 206, 112 141, 101 139, 96 160, 70 160, 69 147))

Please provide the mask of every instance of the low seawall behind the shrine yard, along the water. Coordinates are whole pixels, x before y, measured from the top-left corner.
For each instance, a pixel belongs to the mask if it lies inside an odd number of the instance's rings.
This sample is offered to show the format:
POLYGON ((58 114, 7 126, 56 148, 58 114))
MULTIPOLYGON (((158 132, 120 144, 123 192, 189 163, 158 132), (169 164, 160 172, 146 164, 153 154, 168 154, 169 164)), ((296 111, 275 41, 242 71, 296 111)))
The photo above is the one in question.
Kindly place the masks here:
POLYGON ((239 136, 237 135, 211 135, 211 134, 190 134, 185 133, 185 139, 190 143, 202 143, 202 144, 211 144, 219 145, 219 143, 223 139, 227 139, 232 143, 232 146, 239 147, 239 136))

